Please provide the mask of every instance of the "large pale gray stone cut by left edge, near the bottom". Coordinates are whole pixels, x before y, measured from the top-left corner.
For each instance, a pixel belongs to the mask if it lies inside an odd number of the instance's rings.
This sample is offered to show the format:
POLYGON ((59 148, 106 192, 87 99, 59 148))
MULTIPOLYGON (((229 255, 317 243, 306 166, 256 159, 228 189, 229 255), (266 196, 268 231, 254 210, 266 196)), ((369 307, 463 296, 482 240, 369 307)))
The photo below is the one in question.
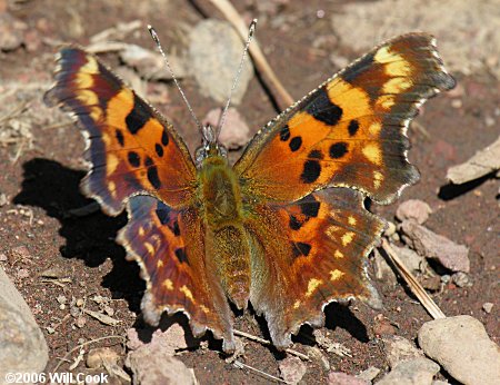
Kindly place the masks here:
POLYGON ((0 378, 7 373, 39 373, 49 349, 31 309, 0 267, 0 378))

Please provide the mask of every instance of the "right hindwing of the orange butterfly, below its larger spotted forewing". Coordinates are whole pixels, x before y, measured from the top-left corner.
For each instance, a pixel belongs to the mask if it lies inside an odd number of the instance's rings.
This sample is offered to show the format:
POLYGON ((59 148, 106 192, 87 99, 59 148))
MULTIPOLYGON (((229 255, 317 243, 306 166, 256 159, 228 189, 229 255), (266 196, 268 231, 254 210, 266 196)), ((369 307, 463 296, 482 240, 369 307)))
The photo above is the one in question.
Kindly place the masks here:
POLYGON ((294 204, 260 205, 246 225, 257 239, 252 283, 260 283, 250 302, 264 314, 278 348, 290 345, 300 325, 321 326, 332 300, 380 306, 366 266, 384 225, 362 203, 358 191, 326 189, 294 204))

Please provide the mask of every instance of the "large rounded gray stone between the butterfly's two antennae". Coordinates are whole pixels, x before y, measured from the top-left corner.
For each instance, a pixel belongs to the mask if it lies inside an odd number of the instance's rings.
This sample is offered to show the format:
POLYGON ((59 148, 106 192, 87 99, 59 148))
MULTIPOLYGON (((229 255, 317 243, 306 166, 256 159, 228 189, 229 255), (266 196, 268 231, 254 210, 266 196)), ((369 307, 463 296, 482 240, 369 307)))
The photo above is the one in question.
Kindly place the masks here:
MULTIPOLYGON (((227 101, 243 47, 238 33, 226 21, 203 20, 197 24, 190 36, 189 60, 190 71, 203 95, 221 105, 227 101)), ((232 95, 232 103, 241 102, 252 77, 252 65, 247 59, 232 95)))

